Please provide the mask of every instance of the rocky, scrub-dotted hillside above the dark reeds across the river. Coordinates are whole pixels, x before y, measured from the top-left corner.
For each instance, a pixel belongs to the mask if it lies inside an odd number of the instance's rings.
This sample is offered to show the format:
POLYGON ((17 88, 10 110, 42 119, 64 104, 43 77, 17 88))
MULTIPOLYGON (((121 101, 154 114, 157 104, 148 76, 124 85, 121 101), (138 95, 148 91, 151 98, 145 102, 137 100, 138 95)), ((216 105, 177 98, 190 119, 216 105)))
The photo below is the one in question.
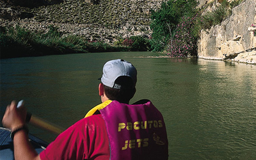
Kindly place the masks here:
POLYGON ((31 1, 0 0, 0 26, 18 24, 44 33, 53 25, 64 35, 113 43, 130 36, 150 37, 150 10, 166 0, 38 0, 37 5, 31 1))

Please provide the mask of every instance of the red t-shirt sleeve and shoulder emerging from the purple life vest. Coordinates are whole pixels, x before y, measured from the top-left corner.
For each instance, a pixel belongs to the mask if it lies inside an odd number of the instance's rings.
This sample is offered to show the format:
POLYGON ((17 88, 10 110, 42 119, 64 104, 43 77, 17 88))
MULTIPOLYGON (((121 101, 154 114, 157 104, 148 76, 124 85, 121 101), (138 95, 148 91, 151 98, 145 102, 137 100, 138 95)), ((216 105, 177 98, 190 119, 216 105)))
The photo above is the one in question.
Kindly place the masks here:
POLYGON ((83 118, 40 153, 44 159, 109 159, 109 140, 101 115, 83 118))

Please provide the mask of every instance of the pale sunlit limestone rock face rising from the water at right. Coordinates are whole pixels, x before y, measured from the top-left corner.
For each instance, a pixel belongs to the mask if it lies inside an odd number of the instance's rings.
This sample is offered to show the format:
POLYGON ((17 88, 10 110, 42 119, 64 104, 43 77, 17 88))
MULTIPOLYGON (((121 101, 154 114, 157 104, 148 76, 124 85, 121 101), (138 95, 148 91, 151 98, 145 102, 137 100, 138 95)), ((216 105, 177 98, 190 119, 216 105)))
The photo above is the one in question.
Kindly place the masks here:
POLYGON ((256 0, 246 0, 232 10, 232 15, 211 29, 202 30, 198 40, 198 57, 255 63, 256 0), (243 56, 239 56, 243 54, 243 56), (248 57, 242 60, 241 57, 248 57))

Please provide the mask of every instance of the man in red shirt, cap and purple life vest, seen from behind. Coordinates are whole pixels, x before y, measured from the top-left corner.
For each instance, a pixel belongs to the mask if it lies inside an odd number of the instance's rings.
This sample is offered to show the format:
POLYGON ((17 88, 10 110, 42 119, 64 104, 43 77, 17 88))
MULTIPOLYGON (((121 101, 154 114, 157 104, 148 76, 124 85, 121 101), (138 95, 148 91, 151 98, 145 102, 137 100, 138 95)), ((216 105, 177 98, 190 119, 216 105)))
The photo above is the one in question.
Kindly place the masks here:
POLYGON ((61 133, 38 155, 28 141, 26 109, 13 101, 4 127, 13 133, 15 159, 168 159, 163 116, 149 100, 129 104, 136 92, 137 70, 125 60, 103 67, 102 104, 61 133))

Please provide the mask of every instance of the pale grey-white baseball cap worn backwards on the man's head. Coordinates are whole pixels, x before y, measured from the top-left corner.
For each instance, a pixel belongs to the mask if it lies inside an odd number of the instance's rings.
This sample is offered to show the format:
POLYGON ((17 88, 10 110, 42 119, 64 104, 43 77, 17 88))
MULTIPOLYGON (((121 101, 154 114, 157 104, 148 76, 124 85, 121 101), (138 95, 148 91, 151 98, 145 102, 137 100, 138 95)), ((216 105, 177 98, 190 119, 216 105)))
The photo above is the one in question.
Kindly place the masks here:
POLYGON ((137 70, 129 61, 125 60, 111 60, 105 63, 103 67, 103 74, 101 82, 105 86, 111 88, 120 89, 122 84, 117 84, 116 79, 118 77, 131 77, 133 86, 135 87, 137 82, 137 70))

